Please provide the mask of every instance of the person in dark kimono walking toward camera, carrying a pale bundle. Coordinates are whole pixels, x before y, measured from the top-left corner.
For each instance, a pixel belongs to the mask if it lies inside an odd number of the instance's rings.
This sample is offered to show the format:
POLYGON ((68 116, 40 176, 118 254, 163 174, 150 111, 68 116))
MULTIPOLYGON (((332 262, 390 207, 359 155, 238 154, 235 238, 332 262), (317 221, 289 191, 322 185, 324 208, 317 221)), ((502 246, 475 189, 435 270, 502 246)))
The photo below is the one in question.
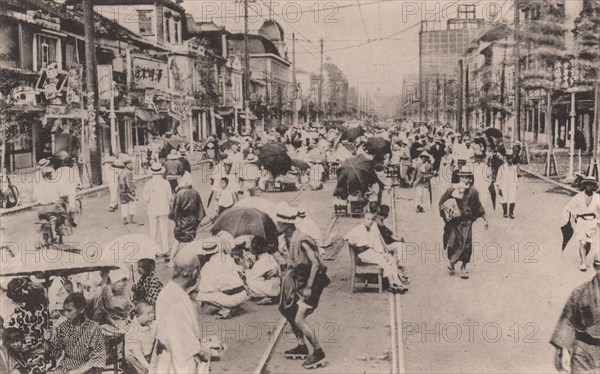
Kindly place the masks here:
POLYGON ((472 187, 473 172, 463 166, 458 172, 460 183, 448 188, 440 199, 440 215, 446 221, 444 226, 444 248, 448 251, 448 270, 454 274, 454 266, 460 261, 460 277, 469 278, 467 264, 473 254, 473 222, 478 218, 485 221, 488 229, 485 210, 479 199, 479 192, 472 187), (454 201, 452 201, 454 200, 454 201))

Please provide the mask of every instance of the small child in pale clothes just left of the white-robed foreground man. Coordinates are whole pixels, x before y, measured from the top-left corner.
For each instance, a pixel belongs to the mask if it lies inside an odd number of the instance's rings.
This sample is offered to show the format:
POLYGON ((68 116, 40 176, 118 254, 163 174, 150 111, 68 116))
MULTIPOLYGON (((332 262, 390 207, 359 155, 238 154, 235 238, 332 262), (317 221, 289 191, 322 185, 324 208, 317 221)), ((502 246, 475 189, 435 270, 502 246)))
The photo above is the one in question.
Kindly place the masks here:
POLYGON ((156 323, 154 323, 154 306, 140 301, 134 309, 135 316, 127 327, 125 336, 125 359, 128 373, 146 374, 150 371, 150 358, 154 339, 156 339, 156 323))

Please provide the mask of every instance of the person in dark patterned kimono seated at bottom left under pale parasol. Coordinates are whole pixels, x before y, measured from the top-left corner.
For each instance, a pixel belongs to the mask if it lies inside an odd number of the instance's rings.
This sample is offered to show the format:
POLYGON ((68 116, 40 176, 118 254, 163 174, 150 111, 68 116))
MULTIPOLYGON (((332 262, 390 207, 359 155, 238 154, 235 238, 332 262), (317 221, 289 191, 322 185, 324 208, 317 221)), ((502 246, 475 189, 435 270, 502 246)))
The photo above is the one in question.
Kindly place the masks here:
POLYGON ((52 357, 58 361, 55 373, 99 373, 106 365, 102 329, 85 315, 86 300, 80 293, 65 299, 67 320, 52 337, 52 357))

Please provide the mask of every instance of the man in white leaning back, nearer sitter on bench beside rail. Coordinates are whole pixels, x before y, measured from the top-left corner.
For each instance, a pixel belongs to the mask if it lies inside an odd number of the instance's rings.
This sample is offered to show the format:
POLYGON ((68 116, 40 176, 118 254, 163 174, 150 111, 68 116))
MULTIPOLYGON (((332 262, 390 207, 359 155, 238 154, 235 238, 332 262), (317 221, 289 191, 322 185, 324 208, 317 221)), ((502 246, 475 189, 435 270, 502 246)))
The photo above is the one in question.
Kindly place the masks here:
POLYGON ((391 256, 388 247, 383 242, 377 226, 373 226, 374 216, 371 212, 365 213, 363 221, 346 234, 348 244, 354 246, 359 252, 358 257, 369 264, 379 265, 383 269, 383 276, 388 279, 391 291, 405 292, 396 260, 391 256))

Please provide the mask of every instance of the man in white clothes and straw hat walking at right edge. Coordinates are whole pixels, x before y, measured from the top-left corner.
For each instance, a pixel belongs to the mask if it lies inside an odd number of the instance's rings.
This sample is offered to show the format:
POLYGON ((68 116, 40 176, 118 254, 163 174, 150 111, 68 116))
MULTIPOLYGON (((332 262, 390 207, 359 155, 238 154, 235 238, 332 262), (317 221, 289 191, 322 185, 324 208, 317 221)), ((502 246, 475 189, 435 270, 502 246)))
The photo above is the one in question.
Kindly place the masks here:
POLYGON ((596 235, 600 222, 600 196, 598 181, 587 176, 581 182, 583 191, 573 196, 563 210, 565 223, 571 221, 574 238, 579 241, 579 270, 586 271, 585 258, 592 248, 592 237, 596 235))

